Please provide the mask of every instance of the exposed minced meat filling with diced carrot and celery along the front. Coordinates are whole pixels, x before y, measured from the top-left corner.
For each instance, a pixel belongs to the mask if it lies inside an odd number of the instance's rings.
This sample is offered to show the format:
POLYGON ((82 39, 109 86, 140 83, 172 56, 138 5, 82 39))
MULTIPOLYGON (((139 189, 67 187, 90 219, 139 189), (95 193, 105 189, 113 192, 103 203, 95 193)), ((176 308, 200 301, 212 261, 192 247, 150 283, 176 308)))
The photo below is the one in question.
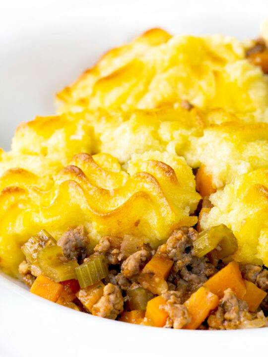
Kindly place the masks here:
POLYGON ((44 241, 44 235, 48 242, 40 246, 37 260, 31 262, 26 254, 19 267, 34 294, 95 316, 139 325, 209 330, 268 325, 266 267, 238 266, 230 256, 215 258, 221 243, 197 256, 195 242, 201 233, 193 228, 173 231, 157 250, 127 236, 101 238, 90 251, 82 226, 69 228, 57 245, 45 231, 40 240, 44 241), (44 255, 46 249, 52 255, 46 255, 47 251, 44 255), (73 263, 76 278, 71 276, 73 263), (59 281, 65 279, 59 274, 72 279, 59 281))

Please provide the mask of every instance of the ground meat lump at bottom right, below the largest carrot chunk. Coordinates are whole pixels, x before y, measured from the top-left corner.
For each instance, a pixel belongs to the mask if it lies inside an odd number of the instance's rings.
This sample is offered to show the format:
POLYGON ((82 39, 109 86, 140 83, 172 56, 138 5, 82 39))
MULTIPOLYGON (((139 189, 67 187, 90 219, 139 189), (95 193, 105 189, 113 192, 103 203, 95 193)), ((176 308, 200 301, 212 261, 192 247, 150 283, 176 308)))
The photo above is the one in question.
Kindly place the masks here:
POLYGON ((266 323, 262 311, 257 314, 250 313, 246 301, 237 298, 231 289, 224 292, 224 297, 220 300, 218 309, 210 314, 207 319, 209 329, 213 330, 262 327, 266 323))

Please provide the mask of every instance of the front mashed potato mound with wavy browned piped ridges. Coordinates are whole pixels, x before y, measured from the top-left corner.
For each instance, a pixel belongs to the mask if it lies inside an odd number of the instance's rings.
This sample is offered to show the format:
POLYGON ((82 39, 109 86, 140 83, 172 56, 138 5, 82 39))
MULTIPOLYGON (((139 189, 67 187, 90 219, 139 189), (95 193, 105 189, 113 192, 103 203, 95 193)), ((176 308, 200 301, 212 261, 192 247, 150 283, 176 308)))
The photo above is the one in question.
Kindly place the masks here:
POLYGON ((189 214, 200 195, 185 160, 156 152, 138 161, 129 175, 108 154, 78 154, 49 190, 28 171, 7 171, 0 179, 1 267, 15 274, 20 245, 44 228, 59 238, 69 226, 82 224, 92 246, 111 234, 142 236, 157 246, 174 229, 195 225, 197 217, 189 214))

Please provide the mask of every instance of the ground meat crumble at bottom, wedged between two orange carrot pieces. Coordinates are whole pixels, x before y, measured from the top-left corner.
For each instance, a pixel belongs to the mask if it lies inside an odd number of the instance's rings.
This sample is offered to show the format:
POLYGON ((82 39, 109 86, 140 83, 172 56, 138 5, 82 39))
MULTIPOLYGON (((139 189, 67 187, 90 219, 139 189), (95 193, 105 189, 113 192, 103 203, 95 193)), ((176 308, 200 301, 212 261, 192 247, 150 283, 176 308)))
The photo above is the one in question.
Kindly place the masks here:
POLYGON ((187 307, 181 304, 181 298, 178 292, 168 292, 162 295, 166 300, 166 304, 161 308, 168 313, 165 328, 181 329, 191 321, 187 307))

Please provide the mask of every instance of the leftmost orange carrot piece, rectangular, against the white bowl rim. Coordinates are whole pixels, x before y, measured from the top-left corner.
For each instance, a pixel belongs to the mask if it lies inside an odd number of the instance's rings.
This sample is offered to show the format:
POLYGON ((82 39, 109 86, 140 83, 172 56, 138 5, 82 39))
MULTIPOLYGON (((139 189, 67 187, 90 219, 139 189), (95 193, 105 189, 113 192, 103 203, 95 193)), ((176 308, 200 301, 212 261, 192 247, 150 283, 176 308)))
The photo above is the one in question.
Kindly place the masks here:
POLYGON ((64 287, 61 284, 56 283, 41 274, 36 278, 30 292, 40 297, 44 297, 47 300, 56 302, 61 296, 63 290, 64 287))

